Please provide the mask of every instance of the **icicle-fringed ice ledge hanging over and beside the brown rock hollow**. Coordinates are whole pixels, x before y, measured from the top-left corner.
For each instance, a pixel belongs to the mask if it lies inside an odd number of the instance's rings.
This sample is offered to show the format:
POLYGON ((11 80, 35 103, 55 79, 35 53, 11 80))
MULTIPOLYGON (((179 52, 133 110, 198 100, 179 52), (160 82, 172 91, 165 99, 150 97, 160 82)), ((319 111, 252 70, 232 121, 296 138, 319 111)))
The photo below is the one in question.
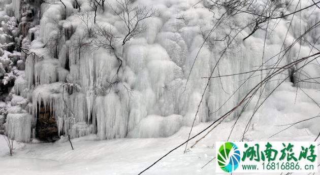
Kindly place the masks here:
MULTIPOLYGON (((85 96, 69 95, 67 86, 61 82, 39 85, 33 92, 33 115, 39 118, 39 109, 56 121, 57 134, 79 137, 93 133, 94 127, 86 118, 85 96)), ((39 121, 38 121, 39 122, 39 121)))

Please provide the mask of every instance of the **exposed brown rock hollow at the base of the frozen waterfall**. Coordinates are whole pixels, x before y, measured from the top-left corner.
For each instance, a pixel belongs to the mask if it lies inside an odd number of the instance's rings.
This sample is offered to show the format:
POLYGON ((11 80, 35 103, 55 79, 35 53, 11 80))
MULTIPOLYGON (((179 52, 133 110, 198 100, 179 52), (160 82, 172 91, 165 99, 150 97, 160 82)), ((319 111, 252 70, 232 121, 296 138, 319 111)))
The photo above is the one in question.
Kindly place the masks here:
POLYGON ((54 142, 59 139, 58 128, 54 115, 44 107, 40 108, 36 124, 36 137, 40 141, 54 142))

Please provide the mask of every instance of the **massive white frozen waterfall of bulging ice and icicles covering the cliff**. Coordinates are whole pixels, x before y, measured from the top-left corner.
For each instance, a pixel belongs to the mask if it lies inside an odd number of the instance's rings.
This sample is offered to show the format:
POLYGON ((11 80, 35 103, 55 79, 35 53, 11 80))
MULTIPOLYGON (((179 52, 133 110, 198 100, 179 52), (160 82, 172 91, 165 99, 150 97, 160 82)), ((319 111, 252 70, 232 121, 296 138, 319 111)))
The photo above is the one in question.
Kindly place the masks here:
MULTIPOLYGON (((7 7, 12 7, 17 18, 20 17, 19 2, 14 0, 7 7)), ((237 45, 230 46, 219 59, 225 43, 218 39, 223 38, 229 30, 227 24, 221 24, 216 29, 209 38, 209 44, 202 46, 202 43, 223 10, 214 9, 214 13, 208 11, 205 7, 207 1, 197 4, 196 0, 143 0, 135 4, 153 4, 160 15, 147 19, 143 33, 123 47, 117 45, 117 52, 112 53, 109 49, 97 49, 79 43, 86 27, 92 25, 86 26, 81 16, 93 14, 84 13, 90 10, 85 1, 79 1, 81 12, 77 12, 79 9, 72 0, 63 2, 66 9, 62 5, 42 4, 39 26, 30 28, 21 42, 29 53, 21 54, 20 59, 25 61, 25 65, 21 60, 16 60, 18 69, 24 69, 25 66, 25 71, 16 78, 13 88, 16 96, 12 98, 11 105, 19 106, 31 115, 20 111, 19 114, 7 116, 7 126, 19 141, 29 141, 42 107, 49 109, 55 117, 59 134, 70 134, 72 137, 90 133, 96 133, 100 139, 170 136, 182 126, 193 124, 207 84, 207 79, 202 77, 210 76, 217 61, 218 69, 213 76, 231 75, 252 71, 262 61, 268 61, 270 66, 283 66, 310 55, 319 47, 319 41, 315 41, 314 48, 296 43, 289 53, 274 57, 283 49, 282 43, 288 47, 300 36, 297 33, 299 18, 293 18, 292 26, 288 26, 292 18, 289 16, 272 21, 274 31, 269 33, 265 46, 264 31, 253 34, 243 42, 242 39, 250 32, 245 29, 236 37, 237 45), (192 7, 194 4, 197 6, 192 7), (287 29, 290 29, 289 34, 284 38, 283 31, 287 29), (120 68, 117 59, 119 54, 122 58, 120 68), (278 61, 281 56, 283 59, 278 61)), ((297 3, 294 1, 294 4, 297 3)), ((116 5, 114 2, 110 4, 116 5)), ((303 1, 302 6, 310 4, 311 1, 303 1)), ((288 13, 295 10, 293 6, 287 9, 288 13)), ((303 11, 300 31, 313 25, 319 13, 320 10, 316 8, 303 11)), ((233 23, 230 25, 241 26, 245 18, 249 16, 231 17, 228 20, 233 23)), ((125 35, 123 24, 110 7, 99 13, 97 20, 101 25, 110 25, 119 36, 125 35)), ((317 38, 319 33, 317 27, 306 37, 317 38)), ((2 44, 6 43, 5 36, 0 40, 2 44)), ((267 73, 262 72, 263 75, 267 73)), ((273 90, 278 84, 277 80, 288 74, 284 72, 274 77, 265 87, 265 92, 273 90)), ((295 77, 309 77, 305 75, 319 77, 319 66, 310 63, 295 77)), ((258 74, 245 82, 247 78, 248 75, 241 74, 212 79, 200 105, 196 124, 214 120, 236 106, 247 91, 261 80, 258 74), (235 95, 231 95, 234 92, 235 95), (221 107, 224 103, 226 105, 221 107)), ((319 88, 318 84, 306 82, 300 82, 298 86, 319 88)))

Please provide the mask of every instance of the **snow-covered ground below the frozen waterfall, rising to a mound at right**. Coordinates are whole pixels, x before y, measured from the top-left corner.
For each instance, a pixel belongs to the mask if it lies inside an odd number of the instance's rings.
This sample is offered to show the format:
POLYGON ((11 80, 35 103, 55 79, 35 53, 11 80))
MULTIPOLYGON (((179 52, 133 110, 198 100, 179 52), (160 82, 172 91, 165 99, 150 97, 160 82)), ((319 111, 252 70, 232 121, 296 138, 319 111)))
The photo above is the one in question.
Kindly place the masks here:
MULTIPOLYGON (((313 100, 320 102, 320 96, 315 95, 316 90, 304 91, 312 94, 313 100)), ((278 125, 317 115, 319 110, 313 100, 301 90, 298 90, 296 96, 296 89, 290 83, 285 83, 270 96, 265 106, 253 118, 252 127, 245 138, 250 141, 314 141, 314 132, 319 129, 319 118, 294 125, 269 138, 287 127, 278 125)), ((249 117, 248 110, 239 119, 231 135, 232 141, 239 141, 242 137, 249 117)), ((184 146, 175 150, 144 174, 215 174, 214 160, 204 165, 215 156, 215 142, 226 141, 234 122, 235 120, 222 122, 196 147, 185 154, 184 146)), ((198 133, 209 124, 197 125, 193 133, 198 133)), ((189 130, 190 127, 182 127, 174 135, 164 138, 119 138, 108 141, 97 141, 99 138, 96 135, 88 135, 72 139, 74 150, 66 138, 56 143, 15 143, 16 149, 12 157, 8 154, 4 137, 0 136, 0 172, 6 175, 138 174, 156 159, 183 143, 189 130)), ((189 146, 194 143, 195 140, 190 141, 189 146)))

